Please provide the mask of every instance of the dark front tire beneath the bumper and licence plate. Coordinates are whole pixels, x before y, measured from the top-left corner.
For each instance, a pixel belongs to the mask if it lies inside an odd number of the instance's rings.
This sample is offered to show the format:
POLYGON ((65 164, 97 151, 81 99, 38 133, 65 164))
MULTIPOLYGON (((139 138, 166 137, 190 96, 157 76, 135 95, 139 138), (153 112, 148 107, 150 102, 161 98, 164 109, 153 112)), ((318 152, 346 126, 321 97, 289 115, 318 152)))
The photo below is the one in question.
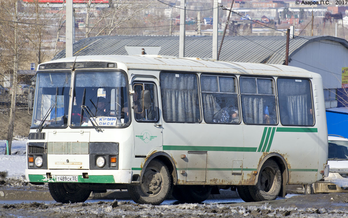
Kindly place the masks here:
POLYGON ((76 183, 48 183, 49 193, 52 198, 60 203, 85 202, 91 190, 82 189, 76 183))

